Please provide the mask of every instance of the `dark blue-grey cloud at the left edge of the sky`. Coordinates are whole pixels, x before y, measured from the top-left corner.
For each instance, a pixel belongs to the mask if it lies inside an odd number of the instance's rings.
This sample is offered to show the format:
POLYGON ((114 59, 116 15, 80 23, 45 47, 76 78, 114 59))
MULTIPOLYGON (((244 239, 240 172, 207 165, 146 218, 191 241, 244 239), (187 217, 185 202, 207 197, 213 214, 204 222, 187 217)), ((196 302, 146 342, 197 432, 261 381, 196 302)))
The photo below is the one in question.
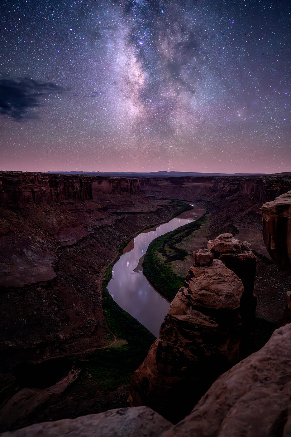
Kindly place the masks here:
POLYGON ((0 80, 0 111, 14 121, 25 118, 36 118, 29 114, 29 110, 43 106, 44 96, 55 96, 65 91, 55 83, 40 83, 28 77, 20 78, 19 82, 13 79, 0 80))

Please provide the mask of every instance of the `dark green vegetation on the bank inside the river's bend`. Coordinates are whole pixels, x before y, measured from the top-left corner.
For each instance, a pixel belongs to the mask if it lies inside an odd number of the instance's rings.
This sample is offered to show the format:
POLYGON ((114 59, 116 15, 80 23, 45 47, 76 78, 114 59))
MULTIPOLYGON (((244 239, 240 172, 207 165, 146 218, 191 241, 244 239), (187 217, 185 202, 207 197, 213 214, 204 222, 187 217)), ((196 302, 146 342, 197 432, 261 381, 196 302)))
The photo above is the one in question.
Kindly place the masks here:
POLYGON ((148 246, 144 257, 143 273, 153 287, 170 302, 174 299, 178 289, 183 286, 184 278, 178 277, 169 263, 183 260, 189 255, 188 251, 178 248, 177 244, 199 229, 203 218, 204 215, 195 222, 190 222, 157 237, 148 246))

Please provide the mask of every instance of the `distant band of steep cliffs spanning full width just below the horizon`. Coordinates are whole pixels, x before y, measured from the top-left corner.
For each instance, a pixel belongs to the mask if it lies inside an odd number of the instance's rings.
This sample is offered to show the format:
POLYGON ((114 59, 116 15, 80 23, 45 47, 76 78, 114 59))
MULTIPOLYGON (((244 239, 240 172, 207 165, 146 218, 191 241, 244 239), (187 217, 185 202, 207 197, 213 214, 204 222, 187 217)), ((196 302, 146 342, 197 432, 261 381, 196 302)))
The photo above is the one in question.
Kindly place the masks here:
POLYGON ((247 195, 260 203, 272 201, 290 188, 288 176, 261 177, 163 177, 127 179, 51 173, 2 172, 2 207, 24 207, 41 201, 98 201, 101 194, 145 194, 185 200, 247 195))

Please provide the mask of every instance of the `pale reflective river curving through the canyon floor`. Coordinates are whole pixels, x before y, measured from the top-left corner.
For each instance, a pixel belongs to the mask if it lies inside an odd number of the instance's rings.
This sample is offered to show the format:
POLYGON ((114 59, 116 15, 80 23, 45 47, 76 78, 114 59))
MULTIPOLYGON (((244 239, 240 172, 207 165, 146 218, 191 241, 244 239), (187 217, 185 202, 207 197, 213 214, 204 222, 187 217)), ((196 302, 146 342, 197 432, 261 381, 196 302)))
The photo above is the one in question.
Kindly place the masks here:
POLYGON ((170 304, 139 270, 142 264, 140 258, 145 255, 149 244, 155 238, 195 221, 205 213, 202 206, 186 203, 193 205, 193 209, 182 212, 168 223, 141 232, 130 241, 120 259, 114 264, 112 279, 107 286, 115 302, 156 337, 159 336, 161 323, 170 304))

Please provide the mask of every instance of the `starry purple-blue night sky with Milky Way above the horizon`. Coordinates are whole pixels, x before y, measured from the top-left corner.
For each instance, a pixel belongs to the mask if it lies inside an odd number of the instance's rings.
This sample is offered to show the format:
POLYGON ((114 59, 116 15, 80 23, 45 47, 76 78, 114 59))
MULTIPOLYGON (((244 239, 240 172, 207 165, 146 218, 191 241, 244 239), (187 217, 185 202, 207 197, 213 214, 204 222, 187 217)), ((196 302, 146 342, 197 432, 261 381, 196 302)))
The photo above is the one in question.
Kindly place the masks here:
POLYGON ((1 0, 1 169, 289 171, 290 4, 1 0))

